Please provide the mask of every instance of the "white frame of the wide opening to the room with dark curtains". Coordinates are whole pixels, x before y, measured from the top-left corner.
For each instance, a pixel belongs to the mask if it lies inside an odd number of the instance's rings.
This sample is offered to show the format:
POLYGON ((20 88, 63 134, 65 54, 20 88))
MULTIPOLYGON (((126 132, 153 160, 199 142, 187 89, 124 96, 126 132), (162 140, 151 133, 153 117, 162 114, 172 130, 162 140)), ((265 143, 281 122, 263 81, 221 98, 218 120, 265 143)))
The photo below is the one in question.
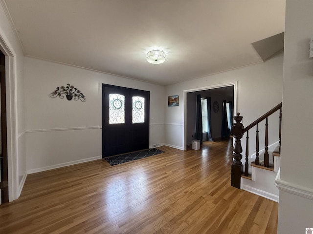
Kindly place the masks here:
POLYGON ((187 149, 187 93, 191 92, 196 92, 196 91, 203 91, 203 90, 208 90, 208 89, 216 89, 216 88, 223 88, 223 87, 228 87, 228 86, 234 86, 234 103, 233 103, 233 112, 237 113, 237 82, 238 81, 233 81, 233 82, 228 82, 224 84, 216 84, 216 85, 210 85, 210 86, 205 86, 205 87, 199 87, 199 88, 194 88, 194 89, 187 89, 183 90, 182 97, 184 100, 184 112, 183 112, 183 119, 184 119, 184 134, 183 134, 183 150, 187 149))

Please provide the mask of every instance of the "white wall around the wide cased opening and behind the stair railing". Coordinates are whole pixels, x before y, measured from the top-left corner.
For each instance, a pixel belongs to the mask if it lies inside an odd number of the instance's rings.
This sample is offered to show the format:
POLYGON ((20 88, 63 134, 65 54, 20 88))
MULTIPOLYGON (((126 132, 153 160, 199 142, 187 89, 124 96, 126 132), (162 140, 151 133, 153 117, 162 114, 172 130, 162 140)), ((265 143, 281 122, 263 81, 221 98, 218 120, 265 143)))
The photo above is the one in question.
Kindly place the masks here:
MULTIPOLYGON (((165 122, 171 123, 165 126, 166 133, 168 133, 167 143, 183 149, 184 90, 238 81, 237 111, 244 117, 243 123, 247 126, 282 101, 282 79, 283 54, 280 54, 264 63, 167 86, 166 96, 179 95, 179 107, 168 107, 165 110, 165 122)), ((236 107, 234 107, 234 113, 235 111, 236 107)), ((278 124, 269 129, 269 135, 270 143, 277 141, 278 124)), ((262 138, 264 139, 260 136, 260 139, 262 138)), ((250 140, 250 142, 255 142, 251 134, 250 140)), ((261 143, 260 141, 260 149, 262 149, 261 143)), ((245 147, 245 142, 243 142, 243 147, 245 147)), ((250 152, 253 154, 255 152, 255 150, 253 152, 253 144, 250 144, 250 147, 250 152)))

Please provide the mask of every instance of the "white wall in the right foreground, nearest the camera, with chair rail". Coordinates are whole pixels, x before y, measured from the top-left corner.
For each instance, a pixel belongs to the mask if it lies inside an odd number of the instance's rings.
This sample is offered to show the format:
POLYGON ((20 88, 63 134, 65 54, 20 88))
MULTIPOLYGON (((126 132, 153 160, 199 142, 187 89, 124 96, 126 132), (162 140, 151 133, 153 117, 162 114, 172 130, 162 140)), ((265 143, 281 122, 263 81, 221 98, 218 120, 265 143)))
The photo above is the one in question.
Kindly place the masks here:
POLYGON ((313 1, 286 1, 278 233, 313 227, 313 1))

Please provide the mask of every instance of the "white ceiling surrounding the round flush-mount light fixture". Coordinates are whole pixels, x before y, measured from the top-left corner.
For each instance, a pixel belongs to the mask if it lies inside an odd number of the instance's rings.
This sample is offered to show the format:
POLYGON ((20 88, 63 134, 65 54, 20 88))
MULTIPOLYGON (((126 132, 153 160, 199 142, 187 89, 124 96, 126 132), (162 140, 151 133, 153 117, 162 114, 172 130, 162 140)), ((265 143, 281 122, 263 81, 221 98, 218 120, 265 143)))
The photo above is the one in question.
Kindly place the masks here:
POLYGON ((25 55, 160 85, 261 62, 251 43, 285 27, 285 0, 5 2, 25 55))

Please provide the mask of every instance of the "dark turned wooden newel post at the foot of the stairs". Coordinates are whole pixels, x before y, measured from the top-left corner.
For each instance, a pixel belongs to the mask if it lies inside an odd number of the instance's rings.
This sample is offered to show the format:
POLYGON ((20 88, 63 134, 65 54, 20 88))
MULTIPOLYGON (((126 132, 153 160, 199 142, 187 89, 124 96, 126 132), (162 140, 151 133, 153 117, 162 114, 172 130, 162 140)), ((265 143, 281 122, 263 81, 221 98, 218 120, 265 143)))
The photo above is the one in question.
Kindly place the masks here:
POLYGON ((241 159, 243 158, 241 154, 243 152, 243 148, 241 147, 240 139, 243 137, 244 126, 241 123, 243 117, 240 116, 240 113, 237 113, 237 116, 235 116, 234 119, 236 122, 233 124, 231 129, 232 135, 235 138, 235 144, 233 147, 234 160, 231 165, 231 186, 240 189, 241 174, 243 172, 243 163, 241 162, 241 159))

